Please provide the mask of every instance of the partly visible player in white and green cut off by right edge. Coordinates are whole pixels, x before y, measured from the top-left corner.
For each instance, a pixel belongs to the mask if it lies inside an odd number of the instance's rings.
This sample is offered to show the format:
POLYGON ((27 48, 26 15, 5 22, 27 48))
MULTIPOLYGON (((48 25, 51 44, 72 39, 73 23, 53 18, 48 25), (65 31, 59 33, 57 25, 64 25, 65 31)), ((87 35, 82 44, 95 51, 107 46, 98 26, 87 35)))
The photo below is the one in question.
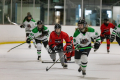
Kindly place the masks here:
POLYGON ((116 37, 116 41, 118 42, 120 46, 120 24, 118 25, 118 27, 114 28, 111 34, 110 42, 113 42, 115 37, 116 37))

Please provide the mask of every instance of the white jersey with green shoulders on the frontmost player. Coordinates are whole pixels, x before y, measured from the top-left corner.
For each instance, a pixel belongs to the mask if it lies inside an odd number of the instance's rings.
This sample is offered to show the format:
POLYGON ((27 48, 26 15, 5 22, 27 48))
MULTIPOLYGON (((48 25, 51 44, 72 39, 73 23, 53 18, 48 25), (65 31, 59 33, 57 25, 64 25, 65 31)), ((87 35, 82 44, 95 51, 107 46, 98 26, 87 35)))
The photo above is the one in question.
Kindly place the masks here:
POLYGON ((95 41, 101 41, 98 32, 95 29, 88 27, 88 31, 83 34, 77 29, 73 35, 74 45, 80 44, 81 47, 86 47, 91 43, 91 38, 95 41))

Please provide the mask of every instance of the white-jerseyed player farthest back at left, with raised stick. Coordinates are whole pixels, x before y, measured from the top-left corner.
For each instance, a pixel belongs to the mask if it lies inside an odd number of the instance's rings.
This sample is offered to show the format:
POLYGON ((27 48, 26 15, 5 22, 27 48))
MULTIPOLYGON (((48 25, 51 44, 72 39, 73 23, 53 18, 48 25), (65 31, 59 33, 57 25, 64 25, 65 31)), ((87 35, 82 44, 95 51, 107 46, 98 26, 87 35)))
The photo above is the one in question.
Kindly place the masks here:
MULTIPOLYGON (((25 31, 26 31, 26 37, 29 36, 29 34, 31 33, 31 30, 33 28, 35 28, 37 25, 36 25, 36 22, 35 20, 32 19, 32 16, 31 15, 28 15, 27 16, 27 19, 24 20, 23 24, 20 26, 21 28, 25 28, 25 31)), ((31 48, 31 41, 28 42, 29 44, 29 48, 31 48)), ((36 43, 35 43, 35 40, 33 39, 33 43, 34 43, 34 46, 36 48, 36 43)))

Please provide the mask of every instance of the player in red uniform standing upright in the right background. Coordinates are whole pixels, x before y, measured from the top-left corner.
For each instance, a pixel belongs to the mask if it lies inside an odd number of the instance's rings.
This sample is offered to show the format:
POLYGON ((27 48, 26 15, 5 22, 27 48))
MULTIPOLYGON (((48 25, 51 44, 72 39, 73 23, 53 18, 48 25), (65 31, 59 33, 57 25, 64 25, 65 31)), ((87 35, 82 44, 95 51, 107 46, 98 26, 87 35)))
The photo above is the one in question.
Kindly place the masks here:
POLYGON ((104 19, 104 23, 101 25, 101 44, 106 38, 107 41, 107 52, 109 53, 110 49, 110 28, 115 28, 115 25, 109 22, 109 19, 104 19))

